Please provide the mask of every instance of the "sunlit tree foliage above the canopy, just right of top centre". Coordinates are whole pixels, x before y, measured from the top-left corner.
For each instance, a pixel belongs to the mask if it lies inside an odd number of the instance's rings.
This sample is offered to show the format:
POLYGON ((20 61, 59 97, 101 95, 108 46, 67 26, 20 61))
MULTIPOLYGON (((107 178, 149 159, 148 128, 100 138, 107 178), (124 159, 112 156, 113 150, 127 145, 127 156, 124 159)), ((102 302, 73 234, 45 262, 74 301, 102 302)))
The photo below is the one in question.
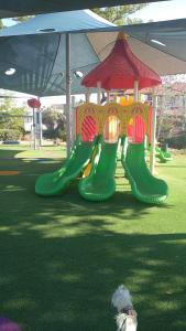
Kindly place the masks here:
POLYGON ((92 11, 114 24, 122 25, 128 23, 132 24, 141 22, 141 20, 138 19, 132 20, 131 18, 129 18, 129 15, 135 13, 146 6, 146 3, 116 6, 110 8, 96 8, 92 11))

